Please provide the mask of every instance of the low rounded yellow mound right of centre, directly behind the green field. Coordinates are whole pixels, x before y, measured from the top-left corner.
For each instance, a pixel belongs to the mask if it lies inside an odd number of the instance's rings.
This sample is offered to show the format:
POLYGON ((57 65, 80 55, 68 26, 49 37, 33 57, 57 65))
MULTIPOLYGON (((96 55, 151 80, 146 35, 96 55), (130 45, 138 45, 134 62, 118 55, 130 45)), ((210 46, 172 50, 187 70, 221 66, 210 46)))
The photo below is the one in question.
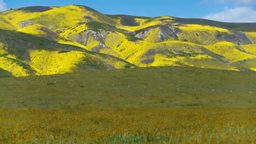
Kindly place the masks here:
POLYGON ((231 66, 223 61, 224 57, 208 51, 200 45, 168 41, 155 43, 140 50, 127 61, 140 67, 149 66, 185 66, 185 67, 208 67, 216 69, 230 69, 231 66), (197 61, 201 61, 197 63, 197 61))

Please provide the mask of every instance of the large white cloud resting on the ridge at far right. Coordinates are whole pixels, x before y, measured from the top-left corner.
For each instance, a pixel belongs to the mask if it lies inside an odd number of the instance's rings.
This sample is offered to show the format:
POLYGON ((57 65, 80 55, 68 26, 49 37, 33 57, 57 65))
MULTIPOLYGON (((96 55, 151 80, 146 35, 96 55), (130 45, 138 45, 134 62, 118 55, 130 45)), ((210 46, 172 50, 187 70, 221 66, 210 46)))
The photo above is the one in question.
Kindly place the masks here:
POLYGON ((256 22, 256 11, 251 7, 224 8, 223 11, 209 14, 203 19, 223 22, 256 22))

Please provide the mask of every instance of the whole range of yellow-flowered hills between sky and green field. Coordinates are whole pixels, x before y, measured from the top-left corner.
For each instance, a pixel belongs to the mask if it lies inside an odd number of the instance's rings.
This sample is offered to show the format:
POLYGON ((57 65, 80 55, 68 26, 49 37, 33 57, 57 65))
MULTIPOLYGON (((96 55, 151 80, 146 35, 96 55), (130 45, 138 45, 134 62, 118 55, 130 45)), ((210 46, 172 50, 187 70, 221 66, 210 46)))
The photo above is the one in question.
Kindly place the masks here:
POLYGON ((0 13, 0 72, 21 77, 131 67, 255 71, 256 24, 105 15, 82 5, 0 13))

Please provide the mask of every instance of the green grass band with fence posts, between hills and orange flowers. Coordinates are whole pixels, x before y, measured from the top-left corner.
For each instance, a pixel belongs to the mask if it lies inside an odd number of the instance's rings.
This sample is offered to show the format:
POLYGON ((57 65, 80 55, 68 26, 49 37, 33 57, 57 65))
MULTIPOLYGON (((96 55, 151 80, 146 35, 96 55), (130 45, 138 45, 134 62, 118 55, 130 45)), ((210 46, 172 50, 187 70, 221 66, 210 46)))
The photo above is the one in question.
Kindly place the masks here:
POLYGON ((149 67, 3 80, 3 109, 256 106, 255 72, 149 67))

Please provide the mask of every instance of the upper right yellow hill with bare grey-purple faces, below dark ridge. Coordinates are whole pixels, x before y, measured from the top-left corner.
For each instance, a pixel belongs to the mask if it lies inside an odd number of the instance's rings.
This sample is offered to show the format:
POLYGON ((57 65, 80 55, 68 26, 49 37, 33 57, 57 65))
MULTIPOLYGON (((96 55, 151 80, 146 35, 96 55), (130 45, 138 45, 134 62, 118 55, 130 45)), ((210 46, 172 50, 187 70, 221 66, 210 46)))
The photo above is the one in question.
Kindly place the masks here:
POLYGON ((251 44, 251 41, 242 32, 233 32, 228 29, 198 24, 152 26, 140 29, 134 32, 133 35, 150 43, 180 40, 202 45, 210 45, 221 41, 240 45, 251 44))

